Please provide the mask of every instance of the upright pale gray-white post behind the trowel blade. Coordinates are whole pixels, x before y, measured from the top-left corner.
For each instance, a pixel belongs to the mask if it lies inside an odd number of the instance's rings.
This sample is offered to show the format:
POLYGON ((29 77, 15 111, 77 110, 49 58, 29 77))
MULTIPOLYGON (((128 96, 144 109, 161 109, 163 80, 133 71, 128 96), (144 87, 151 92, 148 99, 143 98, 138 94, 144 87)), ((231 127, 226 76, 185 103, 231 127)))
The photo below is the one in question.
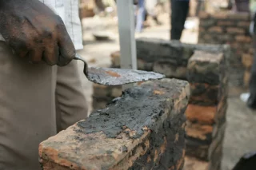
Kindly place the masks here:
MULTIPOLYGON (((120 60, 122 69, 137 69, 136 42, 134 38, 134 0, 117 0, 120 60)), ((122 89, 132 87, 122 85, 122 89)))

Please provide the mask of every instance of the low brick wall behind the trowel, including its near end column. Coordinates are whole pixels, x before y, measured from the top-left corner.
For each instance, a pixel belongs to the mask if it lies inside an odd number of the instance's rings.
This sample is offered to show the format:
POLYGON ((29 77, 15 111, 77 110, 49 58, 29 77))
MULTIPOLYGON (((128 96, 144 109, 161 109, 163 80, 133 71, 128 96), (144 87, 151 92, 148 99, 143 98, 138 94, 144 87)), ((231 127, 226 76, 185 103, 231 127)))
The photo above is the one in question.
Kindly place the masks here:
MULTIPOLYGON (((137 53, 138 69, 190 82, 190 105, 186 110, 186 160, 198 160, 193 166, 186 164, 185 170, 194 170, 201 165, 218 170, 226 128, 229 46, 188 45, 140 38, 137 40, 137 53)), ((119 67, 119 55, 119 52, 111 54, 112 67, 119 67)), ((121 86, 94 85, 94 109, 103 108, 121 93, 121 86)))

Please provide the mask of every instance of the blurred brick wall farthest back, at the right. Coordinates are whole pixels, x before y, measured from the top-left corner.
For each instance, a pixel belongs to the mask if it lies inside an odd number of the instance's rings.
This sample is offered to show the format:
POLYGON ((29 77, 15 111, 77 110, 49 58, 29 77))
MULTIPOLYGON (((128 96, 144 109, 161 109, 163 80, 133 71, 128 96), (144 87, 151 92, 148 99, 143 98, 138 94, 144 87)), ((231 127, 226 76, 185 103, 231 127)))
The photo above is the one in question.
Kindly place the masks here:
POLYGON ((199 14, 199 43, 229 44, 230 84, 233 86, 248 85, 248 63, 252 59, 252 38, 250 37, 250 14, 218 12, 199 14))

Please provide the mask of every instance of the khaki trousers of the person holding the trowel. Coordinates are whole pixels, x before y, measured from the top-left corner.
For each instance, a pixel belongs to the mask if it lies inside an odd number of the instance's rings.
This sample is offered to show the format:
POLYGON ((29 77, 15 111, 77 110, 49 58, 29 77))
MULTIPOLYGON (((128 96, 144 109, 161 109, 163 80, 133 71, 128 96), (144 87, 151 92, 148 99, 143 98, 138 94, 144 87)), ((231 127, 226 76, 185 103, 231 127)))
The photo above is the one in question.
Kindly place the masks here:
POLYGON ((0 42, 0 170, 41 169, 38 144, 86 116, 75 61, 32 65, 0 42))

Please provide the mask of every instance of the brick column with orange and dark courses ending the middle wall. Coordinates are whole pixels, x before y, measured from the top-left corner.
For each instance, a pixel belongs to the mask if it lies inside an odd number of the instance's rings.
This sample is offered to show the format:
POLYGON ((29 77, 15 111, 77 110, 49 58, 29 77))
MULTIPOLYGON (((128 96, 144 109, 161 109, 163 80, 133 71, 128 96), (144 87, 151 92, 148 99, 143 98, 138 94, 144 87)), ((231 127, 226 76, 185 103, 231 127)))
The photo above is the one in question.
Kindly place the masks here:
POLYGON ((219 170, 228 94, 223 53, 195 51, 187 69, 191 96, 186 109, 186 155, 219 170))

